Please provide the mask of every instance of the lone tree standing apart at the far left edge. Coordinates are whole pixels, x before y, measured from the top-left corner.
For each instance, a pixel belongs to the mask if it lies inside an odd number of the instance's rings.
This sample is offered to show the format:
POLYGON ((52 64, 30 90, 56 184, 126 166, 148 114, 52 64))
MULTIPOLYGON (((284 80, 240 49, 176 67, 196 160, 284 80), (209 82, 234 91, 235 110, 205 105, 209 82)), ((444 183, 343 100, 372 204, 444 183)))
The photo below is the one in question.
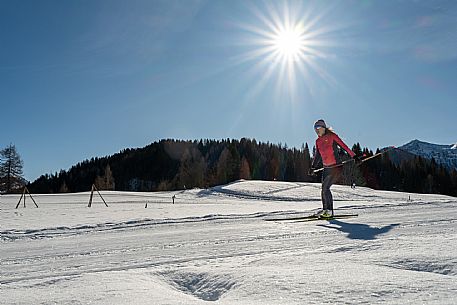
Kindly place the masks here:
POLYGON ((25 184, 22 177, 24 163, 19 156, 16 146, 10 144, 0 150, 0 191, 9 193, 25 184))

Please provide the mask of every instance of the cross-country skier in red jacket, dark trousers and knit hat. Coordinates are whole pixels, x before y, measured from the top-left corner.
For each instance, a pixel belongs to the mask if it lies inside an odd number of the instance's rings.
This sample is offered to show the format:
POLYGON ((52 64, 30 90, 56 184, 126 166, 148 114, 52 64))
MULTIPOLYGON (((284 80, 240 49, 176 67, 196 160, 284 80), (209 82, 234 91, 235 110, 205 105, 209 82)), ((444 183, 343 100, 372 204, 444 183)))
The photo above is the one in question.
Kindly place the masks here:
POLYGON ((322 162, 324 170, 322 173, 322 210, 316 215, 319 217, 332 217, 333 216, 333 197, 330 192, 330 187, 341 176, 342 166, 338 166, 341 160, 338 155, 338 148, 343 148, 351 158, 358 161, 355 153, 338 137, 338 135, 328 128, 324 120, 318 120, 314 123, 314 130, 317 133, 316 139, 316 154, 311 165, 310 174, 314 175, 314 170, 318 164, 322 162))

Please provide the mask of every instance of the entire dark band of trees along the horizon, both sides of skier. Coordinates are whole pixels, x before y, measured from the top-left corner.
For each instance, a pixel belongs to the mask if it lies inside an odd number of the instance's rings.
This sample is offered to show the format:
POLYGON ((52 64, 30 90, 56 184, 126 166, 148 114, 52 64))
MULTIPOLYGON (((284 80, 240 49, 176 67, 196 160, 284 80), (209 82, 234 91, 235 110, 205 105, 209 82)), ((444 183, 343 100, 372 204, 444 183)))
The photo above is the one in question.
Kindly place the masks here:
MULTIPOLYGON (((8 149, 11 152, 11 145, 8 149)), ((353 145, 352 150, 363 157, 380 152, 380 149, 373 152, 362 148, 360 143, 353 145)), ((3 151, 1 160, 6 160, 3 151)), ((312 152, 314 155, 315 147, 312 152)), ((340 154, 341 159, 348 158, 344 151, 341 150, 340 154)), ((343 167, 339 183, 355 183, 379 190, 457 196, 455 169, 449 170, 433 159, 414 155, 398 158, 395 154, 395 151, 382 154, 360 166, 348 163, 343 167)), ((319 176, 308 174, 312 155, 307 143, 297 149, 247 138, 164 139, 143 148, 125 149, 112 156, 85 160, 59 173, 42 175, 29 183, 28 188, 33 193, 66 193, 88 191, 95 184, 103 190, 170 191, 208 188, 238 179, 319 182, 319 176)), ((5 174, 8 167, 4 166, 5 161, 1 161, 0 186, 3 192, 6 185, 9 185, 6 191, 11 192, 24 183, 23 178, 11 178, 22 175, 22 161, 13 159, 16 161, 12 163, 20 165, 21 170, 10 170, 9 180, 5 174), (14 185, 11 181, 15 181, 14 185)))

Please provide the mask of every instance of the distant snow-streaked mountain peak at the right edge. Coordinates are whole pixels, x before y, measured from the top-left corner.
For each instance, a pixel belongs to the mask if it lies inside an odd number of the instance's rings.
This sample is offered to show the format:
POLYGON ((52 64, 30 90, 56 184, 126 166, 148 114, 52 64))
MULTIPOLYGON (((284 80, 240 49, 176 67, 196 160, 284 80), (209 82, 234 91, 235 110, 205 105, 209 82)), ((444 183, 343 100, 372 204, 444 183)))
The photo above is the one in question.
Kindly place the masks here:
POLYGON ((457 143, 441 145, 413 140, 399 148, 429 160, 434 158, 436 163, 442 164, 449 169, 457 169, 457 143))

